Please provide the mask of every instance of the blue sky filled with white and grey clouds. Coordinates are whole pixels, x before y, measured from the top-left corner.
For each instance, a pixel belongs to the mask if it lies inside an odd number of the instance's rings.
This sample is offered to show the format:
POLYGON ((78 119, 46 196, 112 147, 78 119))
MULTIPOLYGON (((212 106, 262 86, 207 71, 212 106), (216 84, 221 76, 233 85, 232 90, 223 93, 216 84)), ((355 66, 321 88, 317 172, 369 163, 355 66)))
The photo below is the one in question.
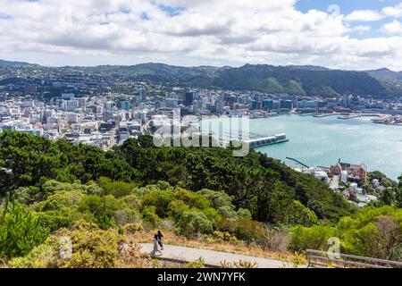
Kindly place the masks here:
POLYGON ((0 59, 402 71, 402 1, 0 0, 0 59))

